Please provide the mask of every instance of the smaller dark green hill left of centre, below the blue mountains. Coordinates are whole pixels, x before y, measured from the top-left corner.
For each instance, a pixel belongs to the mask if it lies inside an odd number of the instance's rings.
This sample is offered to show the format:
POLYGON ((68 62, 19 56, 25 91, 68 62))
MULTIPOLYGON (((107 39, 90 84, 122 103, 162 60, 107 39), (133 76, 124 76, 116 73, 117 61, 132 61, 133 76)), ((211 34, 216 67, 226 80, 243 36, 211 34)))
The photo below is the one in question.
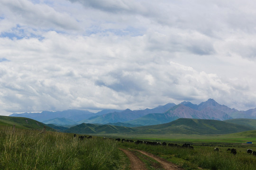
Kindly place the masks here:
POLYGON ((135 131, 135 129, 130 127, 82 123, 80 125, 70 127, 64 132, 77 133, 77 134, 114 134, 114 133, 130 133, 133 131, 135 131))

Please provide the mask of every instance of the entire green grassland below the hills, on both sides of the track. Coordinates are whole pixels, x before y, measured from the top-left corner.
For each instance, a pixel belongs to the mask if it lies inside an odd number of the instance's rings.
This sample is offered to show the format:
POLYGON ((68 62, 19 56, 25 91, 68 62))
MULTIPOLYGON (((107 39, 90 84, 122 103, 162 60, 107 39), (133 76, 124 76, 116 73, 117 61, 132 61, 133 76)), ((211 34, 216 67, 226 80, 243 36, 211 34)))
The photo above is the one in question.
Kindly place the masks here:
MULTIPOLYGON (((172 161, 184 170, 252 170, 256 167, 256 156, 247 154, 247 148, 256 150, 255 144, 244 144, 243 140, 256 139, 255 131, 221 135, 175 135, 162 136, 119 136, 145 138, 146 140, 165 140, 167 143, 182 145, 189 142, 194 149, 151 146, 117 142, 93 136, 92 139, 79 140, 73 134, 38 130, 0 129, 0 169, 1 170, 129 170, 128 158, 118 148, 134 148, 158 155, 172 161), (219 137, 219 139, 217 139, 219 137), (237 138, 237 139, 236 139, 237 138), (243 139, 243 140, 242 140, 243 139), (201 142, 199 142, 201 141, 201 142), (235 143, 232 143, 232 142, 235 143), (239 143, 239 141, 241 141, 239 143), (207 145, 207 146, 206 146, 207 145), (220 152, 214 152, 218 146, 220 152), (237 155, 227 152, 236 148, 237 155)), ((137 153, 137 155, 139 155, 137 153)), ((151 167, 154 162, 143 155, 139 157, 151 167)), ((151 168, 152 169, 152 168, 151 168)), ((152 169, 154 170, 154 169, 152 169)))

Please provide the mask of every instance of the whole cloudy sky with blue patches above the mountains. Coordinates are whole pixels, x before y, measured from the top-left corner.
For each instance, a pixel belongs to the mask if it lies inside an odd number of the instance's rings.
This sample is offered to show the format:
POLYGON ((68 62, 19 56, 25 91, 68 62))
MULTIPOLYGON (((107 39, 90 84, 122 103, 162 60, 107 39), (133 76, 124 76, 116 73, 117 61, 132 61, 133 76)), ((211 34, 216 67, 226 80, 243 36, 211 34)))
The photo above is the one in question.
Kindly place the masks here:
POLYGON ((256 108, 256 1, 0 0, 0 115, 256 108))

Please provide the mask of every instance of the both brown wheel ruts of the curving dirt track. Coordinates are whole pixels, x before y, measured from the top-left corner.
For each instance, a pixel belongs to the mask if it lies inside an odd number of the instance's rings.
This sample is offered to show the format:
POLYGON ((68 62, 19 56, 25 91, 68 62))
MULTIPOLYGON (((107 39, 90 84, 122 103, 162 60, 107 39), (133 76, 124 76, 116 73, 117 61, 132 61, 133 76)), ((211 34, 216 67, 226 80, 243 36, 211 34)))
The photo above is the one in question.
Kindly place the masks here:
MULTIPOLYGON (((123 151, 128 156, 128 158, 131 162, 131 170, 147 170, 144 163, 142 161, 140 161, 136 155, 134 155, 132 152, 130 152, 128 150, 121 149, 121 148, 119 148, 119 149, 121 151, 123 151)), ((175 165, 169 161, 165 161, 164 159, 157 157, 152 153, 147 153, 145 151, 140 151, 140 150, 134 150, 134 151, 140 152, 150 158, 153 158, 155 161, 158 161, 165 170, 182 170, 182 169, 178 168, 177 165, 175 165)))

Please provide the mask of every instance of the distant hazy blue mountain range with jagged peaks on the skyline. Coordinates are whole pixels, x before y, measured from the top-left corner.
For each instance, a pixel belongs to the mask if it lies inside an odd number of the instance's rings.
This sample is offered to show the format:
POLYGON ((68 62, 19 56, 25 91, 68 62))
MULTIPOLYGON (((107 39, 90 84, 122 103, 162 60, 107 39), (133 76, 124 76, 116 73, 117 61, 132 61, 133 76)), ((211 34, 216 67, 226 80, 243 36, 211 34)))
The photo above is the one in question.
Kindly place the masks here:
POLYGON ((145 110, 101 110, 97 113, 92 113, 87 110, 64 110, 55 112, 43 111, 41 113, 13 113, 10 116, 31 118, 57 126, 79 125, 82 123, 119 123, 119 126, 145 126, 168 123, 179 118, 213 120, 238 118, 256 119, 256 108, 239 111, 225 105, 220 105, 213 99, 208 99, 206 102, 201 102, 199 105, 191 102, 181 102, 178 105, 168 103, 163 106, 145 110))

